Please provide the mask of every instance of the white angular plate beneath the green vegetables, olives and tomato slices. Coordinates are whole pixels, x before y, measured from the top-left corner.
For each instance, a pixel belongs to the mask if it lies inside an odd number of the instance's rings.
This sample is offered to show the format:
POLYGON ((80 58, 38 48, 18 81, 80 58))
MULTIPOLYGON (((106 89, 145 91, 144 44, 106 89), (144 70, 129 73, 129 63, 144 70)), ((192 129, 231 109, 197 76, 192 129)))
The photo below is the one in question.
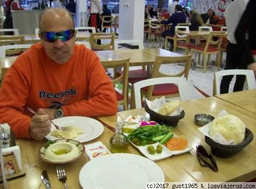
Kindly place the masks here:
MULTIPOLYGON (((145 157, 147 157, 148 159, 151 159, 152 161, 158 161, 158 160, 161 160, 161 159, 169 158, 169 157, 171 157, 173 155, 179 155, 179 154, 186 153, 186 152, 189 152, 189 151, 193 150, 193 147, 188 145, 187 148, 185 148, 184 150, 174 150, 174 151, 171 151, 171 150, 167 149, 167 147, 165 145, 162 145, 163 146, 162 153, 150 154, 148 152, 148 149, 147 149, 149 145, 145 145, 143 147, 142 145, 136 145, 136 144, 133 144, 132 142, 131 142, 131 144, 134 145, 135 148, 138 148, 140 150, 140 152, 145 157)), ((156 149, 158 144, 159 144, 159 142, 156 142, 155 144, 150 144, 150 145, 153 145, 154 148, 156 149)))

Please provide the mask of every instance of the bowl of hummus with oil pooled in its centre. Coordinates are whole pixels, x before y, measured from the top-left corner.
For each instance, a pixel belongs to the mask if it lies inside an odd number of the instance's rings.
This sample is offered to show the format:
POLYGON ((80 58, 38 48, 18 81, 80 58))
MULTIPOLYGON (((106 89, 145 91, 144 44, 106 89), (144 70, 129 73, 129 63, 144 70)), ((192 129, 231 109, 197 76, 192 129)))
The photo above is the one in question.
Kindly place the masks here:
POLYGON ((51 164, 66 164, 81 158, 85 152, 84 145, 71 139, 53 141, 48 147, 39 149, 38 157, 51 164))

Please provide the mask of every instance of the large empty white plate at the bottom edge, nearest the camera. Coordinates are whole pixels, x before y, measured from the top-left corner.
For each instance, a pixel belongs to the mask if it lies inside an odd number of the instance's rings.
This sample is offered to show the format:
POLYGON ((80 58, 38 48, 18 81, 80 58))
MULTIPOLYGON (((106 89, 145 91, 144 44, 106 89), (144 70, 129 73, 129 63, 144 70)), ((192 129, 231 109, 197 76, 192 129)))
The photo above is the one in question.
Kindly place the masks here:
POLYGON ((135 154, 113 153, 95 158, 79 173, 79 183, 90 189, 144 189, 146 182, 164 182, 155 162, 135 154))

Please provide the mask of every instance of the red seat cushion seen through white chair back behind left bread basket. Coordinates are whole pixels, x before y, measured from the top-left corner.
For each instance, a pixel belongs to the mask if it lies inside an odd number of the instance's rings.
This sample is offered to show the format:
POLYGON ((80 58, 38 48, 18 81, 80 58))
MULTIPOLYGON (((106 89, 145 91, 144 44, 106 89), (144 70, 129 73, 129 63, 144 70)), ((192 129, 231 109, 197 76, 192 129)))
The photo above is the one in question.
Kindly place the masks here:
MULTIPOLYGON (((147 92, 148 87, 142 88, 143 91, 147 92)), ((162 96, 162 95, 171 95, 179 93, 178 86, 170 83, 170 84, 156 84, 154 86, 153 96, 162 96)))

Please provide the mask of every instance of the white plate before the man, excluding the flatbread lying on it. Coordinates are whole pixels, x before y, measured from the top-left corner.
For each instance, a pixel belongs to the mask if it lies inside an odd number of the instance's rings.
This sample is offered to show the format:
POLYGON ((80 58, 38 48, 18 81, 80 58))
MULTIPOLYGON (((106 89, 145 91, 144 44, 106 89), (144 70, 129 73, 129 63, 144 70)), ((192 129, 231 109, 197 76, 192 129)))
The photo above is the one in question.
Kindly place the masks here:
MULTIPOLYGON (((77 140, 79 142, 91 141, 97 138, 98 136, 100 136, 104 131, 103 125, 97 120, 90 117, 67 116, 67 117, 61 117, 58 119, 53 119, 53 122, 60 126, 69 125, 69 126, 82 128, 84 131, 84 134, 78 135, 76 138, 74 138, 74 140, 77 140)), ((56 128, 52 124, 51 132, 53 130, 56 130, 56 128)), ((45 138, 51 141, 59 139, 55 136, 51 136, 51 133, 46 135, 45 138)))

